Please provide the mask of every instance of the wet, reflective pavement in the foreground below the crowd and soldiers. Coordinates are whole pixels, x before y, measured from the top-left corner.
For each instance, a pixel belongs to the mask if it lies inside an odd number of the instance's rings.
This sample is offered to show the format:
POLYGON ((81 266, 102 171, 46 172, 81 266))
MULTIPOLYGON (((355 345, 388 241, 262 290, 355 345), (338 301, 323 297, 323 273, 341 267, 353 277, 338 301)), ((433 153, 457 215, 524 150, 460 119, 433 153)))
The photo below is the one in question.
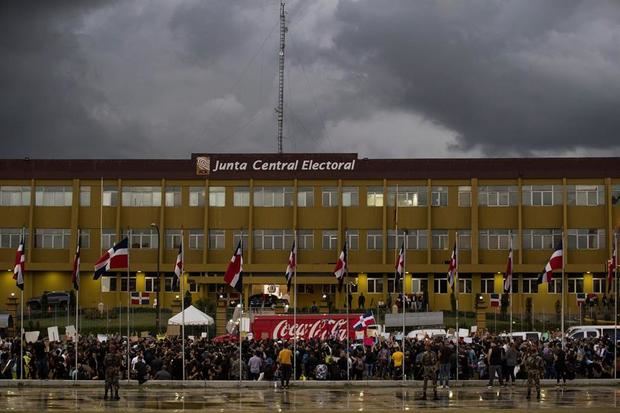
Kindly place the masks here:
MULTIPOLYGON (((526 399, 522 386, 492 390, 466 387, 439 390, 439 399, 422 400, 419 388, 274 388, 249 389, 179 389, 130 388, 121 400, 103 400, 103 389, 3 388, 0 411, 13 412, 388 412, 431 410, 544 410, 546 412, 578 409, 597 413, 618 412, 619 387, 544 388, 541 400, 526 399)), ((429 393, 432 394, 432 393, 429 393)))

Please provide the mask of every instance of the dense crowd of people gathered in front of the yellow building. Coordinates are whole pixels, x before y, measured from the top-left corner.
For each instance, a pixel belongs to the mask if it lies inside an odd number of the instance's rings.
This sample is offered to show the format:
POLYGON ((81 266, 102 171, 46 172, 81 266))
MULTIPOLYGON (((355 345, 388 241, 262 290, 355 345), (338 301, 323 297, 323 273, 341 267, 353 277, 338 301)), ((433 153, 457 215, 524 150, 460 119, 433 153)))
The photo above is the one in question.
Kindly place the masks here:
MULTIPOLYGON (((75 346, 71 342, 39 340, 24 346, 24 363, 18 339, 4 341, 0 347, 0 375, 3 379, 79 379, 104 380, 106 374, 118 379, 183 379, 182 341, 180 338, 139 338, 127 346, 127 338, 82 337, 78 346, 76 369, 75 346), (128 354, 129 352, 129 354, 128 354), (110 357, 106 356, 112 355, 110 357), (129 364, 129 368, 128 368, 129 364), (110 370, 112 369, 112 370, 110 370)), ((606 378, 614 374, 612 340, 585 338, 568 340, 564 348, 559 340, 545 342, 514 341, 499 336, 473 337, 457 346, 445 337, 406 339, 404 349, 399 340, 376 341, 372 346, 346 341, 298 340, 296 345, 280 340, 243 340, 241 360, 238 342, 217 342, 207 338, 186 340, 185 375, 187 380, 278 380, 293 374, 297 380, 381 380, 421 379, 423 356, 427 346, 436 356, 436 373, 440 387, 459 380, 495 379, 501 385, 525 378, 528 349, 534 347, 544 364, 542 378, 565 382, 573 378, 606 378), (282 359, 282 351, 290 355, 282 359), (289 367, 285 365, 290 364, 289 367)))

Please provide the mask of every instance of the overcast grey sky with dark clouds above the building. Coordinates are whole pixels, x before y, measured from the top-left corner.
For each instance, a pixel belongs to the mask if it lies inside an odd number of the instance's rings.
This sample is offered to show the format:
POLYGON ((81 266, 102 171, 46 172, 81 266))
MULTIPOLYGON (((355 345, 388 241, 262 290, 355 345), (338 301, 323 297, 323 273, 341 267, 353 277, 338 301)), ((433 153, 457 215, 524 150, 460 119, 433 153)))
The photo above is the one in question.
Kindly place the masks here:
MULTIPOLYGON (((620 156, 616 0, 289 0, 285 152, 620 156)), ((279 0, 3 0, 0 157, 275 152, 279 0)))

